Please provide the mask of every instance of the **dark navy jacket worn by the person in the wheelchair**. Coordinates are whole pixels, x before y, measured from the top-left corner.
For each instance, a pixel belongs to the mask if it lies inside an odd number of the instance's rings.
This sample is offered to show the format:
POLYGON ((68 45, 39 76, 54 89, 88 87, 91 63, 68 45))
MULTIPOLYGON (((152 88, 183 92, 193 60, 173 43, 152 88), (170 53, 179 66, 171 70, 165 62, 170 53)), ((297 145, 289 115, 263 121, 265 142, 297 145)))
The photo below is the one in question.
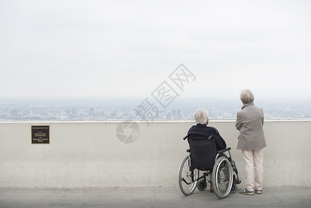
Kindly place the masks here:
POLYGON ((217 150, 223 150, 224 148, 226 148, 226 141, 222 139, 217 129, 211 126, 207 126, 206 124, 202 125, 198 123, 197 125, 193 125, 188 130, 188 135, 192 135, 192 139, 199 140, 206 139, 209 136, 213 135, 217 150))

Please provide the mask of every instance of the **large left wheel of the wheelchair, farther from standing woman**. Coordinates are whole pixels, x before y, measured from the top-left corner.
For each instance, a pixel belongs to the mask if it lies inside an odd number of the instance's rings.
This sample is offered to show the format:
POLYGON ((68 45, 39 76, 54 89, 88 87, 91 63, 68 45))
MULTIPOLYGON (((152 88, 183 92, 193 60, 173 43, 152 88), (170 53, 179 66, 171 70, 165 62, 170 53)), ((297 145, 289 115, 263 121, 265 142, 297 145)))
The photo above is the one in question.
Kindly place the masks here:
POLYGON ((179 166, 178 181, 179 188, 184 195, 188 196, 195 191, 197 187, 197 177, 199 177, 199 170, 190 168, 189 157, 181 162, 179 166))

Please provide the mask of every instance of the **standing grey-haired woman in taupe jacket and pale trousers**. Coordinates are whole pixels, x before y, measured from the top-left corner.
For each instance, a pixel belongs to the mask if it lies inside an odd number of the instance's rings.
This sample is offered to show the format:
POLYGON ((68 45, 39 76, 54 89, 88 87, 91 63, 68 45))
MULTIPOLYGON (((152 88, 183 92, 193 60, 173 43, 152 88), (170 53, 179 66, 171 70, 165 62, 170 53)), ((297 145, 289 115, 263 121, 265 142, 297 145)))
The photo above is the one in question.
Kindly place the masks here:
POLYGON ((236 128, 240 131, 238 150, 242 150, 245 160, 246 189, 242 194, 260 194, 263 190, 263 148, 266 146, 263 132, 263 109, 254 105, 254 94, 249 89, 240 92, 243 105, 236 118, 236 128), (255 180, 254 180, 255 166, 255 180))

